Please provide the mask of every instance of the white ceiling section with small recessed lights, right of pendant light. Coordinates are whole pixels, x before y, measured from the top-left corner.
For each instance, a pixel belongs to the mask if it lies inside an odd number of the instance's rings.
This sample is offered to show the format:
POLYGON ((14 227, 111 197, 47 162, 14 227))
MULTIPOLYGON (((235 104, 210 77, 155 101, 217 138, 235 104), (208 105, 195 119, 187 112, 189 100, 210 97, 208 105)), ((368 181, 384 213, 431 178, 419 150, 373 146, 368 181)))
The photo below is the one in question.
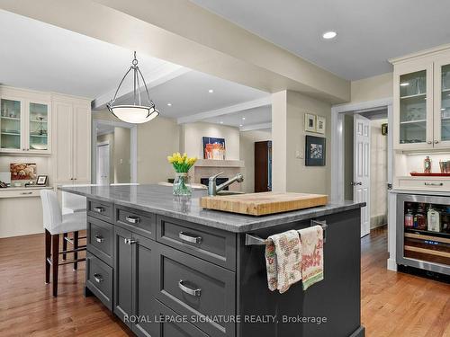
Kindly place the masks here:
POLYGON ((161 116, 170 118, 217 110, 268 95, 257 89, 193 70, 157 85, 149 93, 161 116), (213 93, 209 93, 210 89, 213 93), (172 106, 167 106, 167 103, 172 106))

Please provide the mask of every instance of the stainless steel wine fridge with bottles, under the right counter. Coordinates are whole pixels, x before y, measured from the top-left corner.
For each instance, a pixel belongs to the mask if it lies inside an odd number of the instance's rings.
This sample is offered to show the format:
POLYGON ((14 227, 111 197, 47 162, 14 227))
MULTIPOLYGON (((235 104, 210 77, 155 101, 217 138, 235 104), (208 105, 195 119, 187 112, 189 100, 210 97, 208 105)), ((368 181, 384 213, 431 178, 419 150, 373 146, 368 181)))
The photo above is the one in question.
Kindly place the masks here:
POLYGON ((397 264, 450 275, 450 198, 397 194, 397 264))

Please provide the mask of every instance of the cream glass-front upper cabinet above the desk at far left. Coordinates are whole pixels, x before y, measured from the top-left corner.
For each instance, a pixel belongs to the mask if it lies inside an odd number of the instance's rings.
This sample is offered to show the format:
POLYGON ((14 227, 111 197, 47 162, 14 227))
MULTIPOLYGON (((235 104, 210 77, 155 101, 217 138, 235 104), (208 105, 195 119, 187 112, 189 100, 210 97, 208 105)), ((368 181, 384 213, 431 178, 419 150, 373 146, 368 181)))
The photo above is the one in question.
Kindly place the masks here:
POLYGON ((2 88, 0 93, 0 152, 51 153, 48 95, 2 88), (13 95, 12 95, 13 94, 13 95))

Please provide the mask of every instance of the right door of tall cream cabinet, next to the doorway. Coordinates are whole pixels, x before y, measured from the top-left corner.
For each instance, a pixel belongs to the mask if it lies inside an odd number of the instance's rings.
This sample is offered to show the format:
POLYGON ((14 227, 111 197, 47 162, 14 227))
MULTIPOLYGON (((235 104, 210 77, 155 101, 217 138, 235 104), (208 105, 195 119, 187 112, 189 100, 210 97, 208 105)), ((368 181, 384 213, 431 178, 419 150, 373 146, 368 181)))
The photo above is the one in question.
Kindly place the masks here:
POLYGON ((74 105, 74 179, 91 181, 91 109, 86 105, 74 105))

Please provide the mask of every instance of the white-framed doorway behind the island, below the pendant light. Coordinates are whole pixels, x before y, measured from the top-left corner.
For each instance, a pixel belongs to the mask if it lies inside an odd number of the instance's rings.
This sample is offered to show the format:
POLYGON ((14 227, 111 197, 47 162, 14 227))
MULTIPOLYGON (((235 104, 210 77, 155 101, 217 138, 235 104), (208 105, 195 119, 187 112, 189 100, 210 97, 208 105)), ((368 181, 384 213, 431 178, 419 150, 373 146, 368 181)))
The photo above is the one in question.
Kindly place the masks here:
POLYGON ((92 181, 100 185, 137 182, 137 126, 93 120, 92 181))

